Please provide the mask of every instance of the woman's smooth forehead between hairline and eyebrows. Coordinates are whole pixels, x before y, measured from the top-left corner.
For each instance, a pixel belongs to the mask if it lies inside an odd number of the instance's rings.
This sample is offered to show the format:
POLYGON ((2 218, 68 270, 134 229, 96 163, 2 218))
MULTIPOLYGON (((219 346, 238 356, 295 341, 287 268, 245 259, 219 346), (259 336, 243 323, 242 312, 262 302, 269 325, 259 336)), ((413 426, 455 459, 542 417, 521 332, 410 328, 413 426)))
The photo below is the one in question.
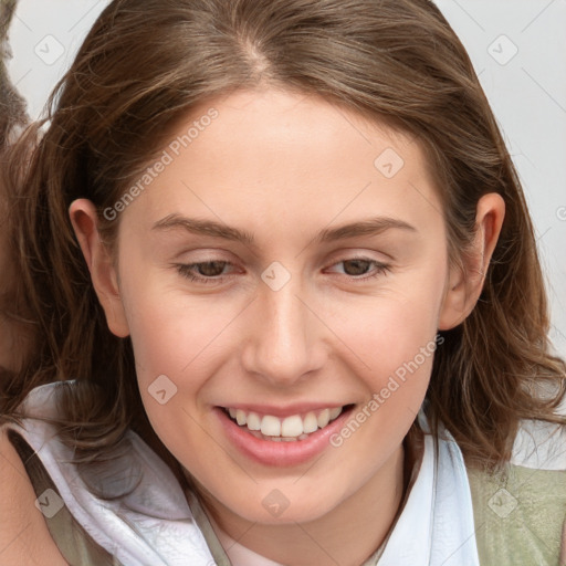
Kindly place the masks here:
POLYGON ((381 211, 439 219, 419 144, 321 96, 235 92, 192 108, 168 139, 167 166, 132 207, 147 222, 177 212, 287 226, 381 211))

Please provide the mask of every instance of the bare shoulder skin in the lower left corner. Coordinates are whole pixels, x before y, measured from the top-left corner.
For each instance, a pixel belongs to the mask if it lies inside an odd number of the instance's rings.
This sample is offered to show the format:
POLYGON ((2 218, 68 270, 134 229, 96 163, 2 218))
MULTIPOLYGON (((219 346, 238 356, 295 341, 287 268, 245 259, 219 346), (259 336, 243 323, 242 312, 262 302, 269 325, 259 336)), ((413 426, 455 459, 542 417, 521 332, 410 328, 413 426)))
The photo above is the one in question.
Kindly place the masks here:
POLYGON ((55 545, 23 462, 0 427, 0 564, 67 566, 55 545))

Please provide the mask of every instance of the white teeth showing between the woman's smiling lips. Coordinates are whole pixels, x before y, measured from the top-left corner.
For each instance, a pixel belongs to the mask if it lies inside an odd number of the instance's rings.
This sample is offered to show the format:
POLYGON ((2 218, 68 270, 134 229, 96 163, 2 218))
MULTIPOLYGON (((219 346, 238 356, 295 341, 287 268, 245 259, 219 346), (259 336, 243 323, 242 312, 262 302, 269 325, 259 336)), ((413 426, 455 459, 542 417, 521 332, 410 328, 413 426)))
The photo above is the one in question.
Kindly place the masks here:
POLYGON ((353 407, 354 405, 329 407, 302 415, 291 415, 285 418, 274 417, 273 415, 259 415, 254 411, 244 411, 230 407, 222 407, 221 409, 232 422, 260 440, 297 442, 306 440, 312 433, 324 429, 353 407))

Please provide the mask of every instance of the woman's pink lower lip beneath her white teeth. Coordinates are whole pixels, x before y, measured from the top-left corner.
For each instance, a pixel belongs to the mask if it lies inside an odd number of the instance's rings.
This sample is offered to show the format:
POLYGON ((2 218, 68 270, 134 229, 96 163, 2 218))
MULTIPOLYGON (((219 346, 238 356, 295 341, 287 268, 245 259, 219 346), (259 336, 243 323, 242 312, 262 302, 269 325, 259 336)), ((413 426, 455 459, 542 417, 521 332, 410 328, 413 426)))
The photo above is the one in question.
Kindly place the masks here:
POLYGON ((352 407, 343 411, 324 429, 308 434, 305 440, 276 442, 262 440, 250 434, 245 428, 238 426, 223 409, 216 407, 227 437, 248 458, 264 465, 290 467, 308 462, 331 446, 329 438, 340 430, 352 412, 352 407))

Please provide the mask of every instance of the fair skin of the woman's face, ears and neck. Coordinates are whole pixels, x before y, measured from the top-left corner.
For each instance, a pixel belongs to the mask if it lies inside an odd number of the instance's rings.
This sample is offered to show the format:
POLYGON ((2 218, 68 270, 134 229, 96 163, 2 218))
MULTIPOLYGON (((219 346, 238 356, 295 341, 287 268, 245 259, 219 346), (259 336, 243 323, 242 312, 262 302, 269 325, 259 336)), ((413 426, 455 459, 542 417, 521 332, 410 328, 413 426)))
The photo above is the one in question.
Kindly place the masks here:
POLYGON ((342 447, 328 446, 306 464, 249 460, 212 408, 364 407, 438 329, 471 312, 503 200, 486 195, 479 202, 464 276, 449 268, 440 200, 415 140, 322 97, 274 90, 207 101, 171 139, 212 106, 219 117, 120 213, 116 256, 101 243, 90 201, 73 202, 71 219, 111 331, 132 337, 151 424, 195 479, 207 512, 273 560, 358 565, 399 510, 402 440, 424 398, 432 356, 342 447), (391 178, 374 166, 386 148, 405 161, 391 178), (255 247, 153 229, 170 214, 235 227, 255 247), (315 240, 324 229, 377 216, 412 230, 315 240), (359 256, 369 262, 350 261, 359 256), (213 273, 224 279, 198 283, 176 266, 207 261, 229 262, 213 273), (291 276, 279 291, 261 279, 274 261, 291 276), (159 375, 177 387, 165 405, 148 392, 159 375), (289 501, 279 517, 262 505, 273 490, 289 501))

